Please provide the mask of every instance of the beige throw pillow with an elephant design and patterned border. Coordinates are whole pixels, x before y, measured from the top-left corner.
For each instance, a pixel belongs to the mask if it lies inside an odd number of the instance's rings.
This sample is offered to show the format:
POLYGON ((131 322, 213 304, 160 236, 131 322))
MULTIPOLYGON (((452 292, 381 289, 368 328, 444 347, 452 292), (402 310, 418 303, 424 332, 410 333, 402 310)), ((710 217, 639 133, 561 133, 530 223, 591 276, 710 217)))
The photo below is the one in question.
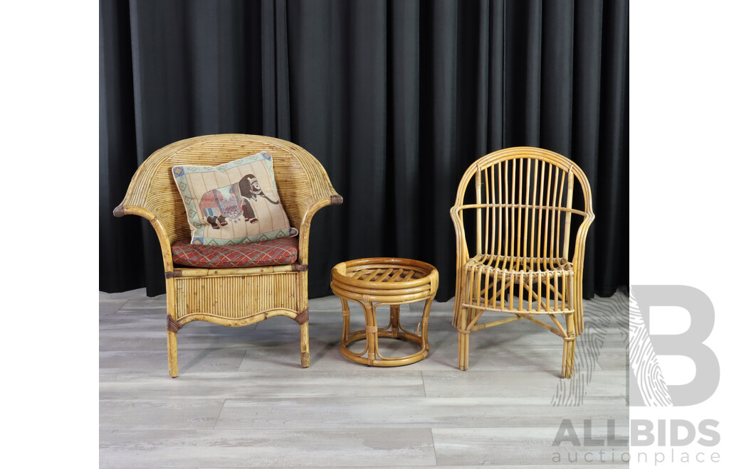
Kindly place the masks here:
POLYGON ((172 168, 187 221, 190 244, 222 246, 296 236, 273 179, 269 153, 230 163, 172 168))

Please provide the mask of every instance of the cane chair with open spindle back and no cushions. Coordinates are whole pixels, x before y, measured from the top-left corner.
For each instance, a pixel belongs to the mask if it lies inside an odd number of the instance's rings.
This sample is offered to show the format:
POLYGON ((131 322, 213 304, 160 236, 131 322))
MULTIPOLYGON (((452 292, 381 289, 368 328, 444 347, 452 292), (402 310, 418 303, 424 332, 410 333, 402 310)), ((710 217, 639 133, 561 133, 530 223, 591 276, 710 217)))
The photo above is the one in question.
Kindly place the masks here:
POLYGON ((451 208, 456 228, 453 326, 458 329, 459 369, 468 369, 471 332, 526 319, 564 339, 561 374, 572 377, 574 340, 584 329, 585 237, 594 218, 585 173, 558 153, 506 148, 481 157, 467 169, 451 208), (584 210, 572 207, 575 179, 582 188, 584 210), (464 203, 471 180, 475 203, 464 203), (464 212, 469 223, 464 223, 464 212), (573 215, 582 217, 576 233, 572 233, 573 215), (475 225, 475 238, 467 236, 467 225, 475 225), (512 316, 478 324, 486 311, 512 316), (538 318, 545 316, 554 325, 538 318), (564 326, 558 316, 564 316, 564 326))

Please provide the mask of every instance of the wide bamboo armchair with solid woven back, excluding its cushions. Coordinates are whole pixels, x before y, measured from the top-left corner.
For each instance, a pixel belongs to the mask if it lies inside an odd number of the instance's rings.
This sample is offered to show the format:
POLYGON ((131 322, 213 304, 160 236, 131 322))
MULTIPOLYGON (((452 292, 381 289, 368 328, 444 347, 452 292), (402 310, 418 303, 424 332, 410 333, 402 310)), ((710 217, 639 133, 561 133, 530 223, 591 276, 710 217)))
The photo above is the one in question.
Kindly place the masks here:
POLYGON ((311 153, 286 140, 259 135, 206 135, 160 148, 137 169, 114 216, 139 215, 152 223, 162 248, 167 293, 167 352, 171 377, 177 370, 177 332, 191 321, 246 326, 285 316, 300 324, 301 366, 309 366, 308 241, 311 218, 321 207, 341 204, 327 172, 311 153), (190 240, 182 198, 171 167, 217 166, 267 151, 273 156, 278 196, 299 230, 298 259, 291 265, 249 268, 190 268, 174 265, 171 244, 190 240))

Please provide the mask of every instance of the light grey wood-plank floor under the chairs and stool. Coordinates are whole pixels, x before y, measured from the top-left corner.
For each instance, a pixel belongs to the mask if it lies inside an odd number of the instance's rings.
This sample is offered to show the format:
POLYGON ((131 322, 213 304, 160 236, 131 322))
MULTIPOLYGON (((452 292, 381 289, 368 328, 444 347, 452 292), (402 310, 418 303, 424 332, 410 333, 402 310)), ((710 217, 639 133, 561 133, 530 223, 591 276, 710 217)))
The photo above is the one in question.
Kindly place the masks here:
MULTIPOLYGON (((406 327, 415 329, 421 304, 403 306, 406 327)), ((391 369, 340 355, 336 297, 310 301, 308 369, 299 366, 299 328, 290 319, 188 324, 173 380, 164 295, 100 293, 100 466, 627 467, 626 442, 607 438, 609 420, 617 438, 628 435, 625 294, 585 301, 572 380, 559 377, 561 340, 528 321, 473 333, 470 369, 459 371, 452 305, 432 308, 431 355, 391 369), (563 419, 582 446, 552 446, 563 419), (604 446, 584 445, 585 423, 604 446)), ((355 307, 353 327, 364 326, 355 307)), ((389 342, 393 355, 415 348, 389 342)))

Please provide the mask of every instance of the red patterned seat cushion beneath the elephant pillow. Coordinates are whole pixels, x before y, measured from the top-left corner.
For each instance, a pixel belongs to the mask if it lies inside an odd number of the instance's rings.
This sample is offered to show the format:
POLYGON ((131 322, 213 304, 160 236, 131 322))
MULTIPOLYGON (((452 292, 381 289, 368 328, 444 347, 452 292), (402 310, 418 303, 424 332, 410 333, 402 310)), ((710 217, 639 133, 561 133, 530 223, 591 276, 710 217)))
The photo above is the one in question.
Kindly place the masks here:
POLYGON ((183 239, 172 244, 172 260, 205 268, 261 267, 293 264, 299 257, 298 238, 281 238, 229 246, 199 246, 183 239))

